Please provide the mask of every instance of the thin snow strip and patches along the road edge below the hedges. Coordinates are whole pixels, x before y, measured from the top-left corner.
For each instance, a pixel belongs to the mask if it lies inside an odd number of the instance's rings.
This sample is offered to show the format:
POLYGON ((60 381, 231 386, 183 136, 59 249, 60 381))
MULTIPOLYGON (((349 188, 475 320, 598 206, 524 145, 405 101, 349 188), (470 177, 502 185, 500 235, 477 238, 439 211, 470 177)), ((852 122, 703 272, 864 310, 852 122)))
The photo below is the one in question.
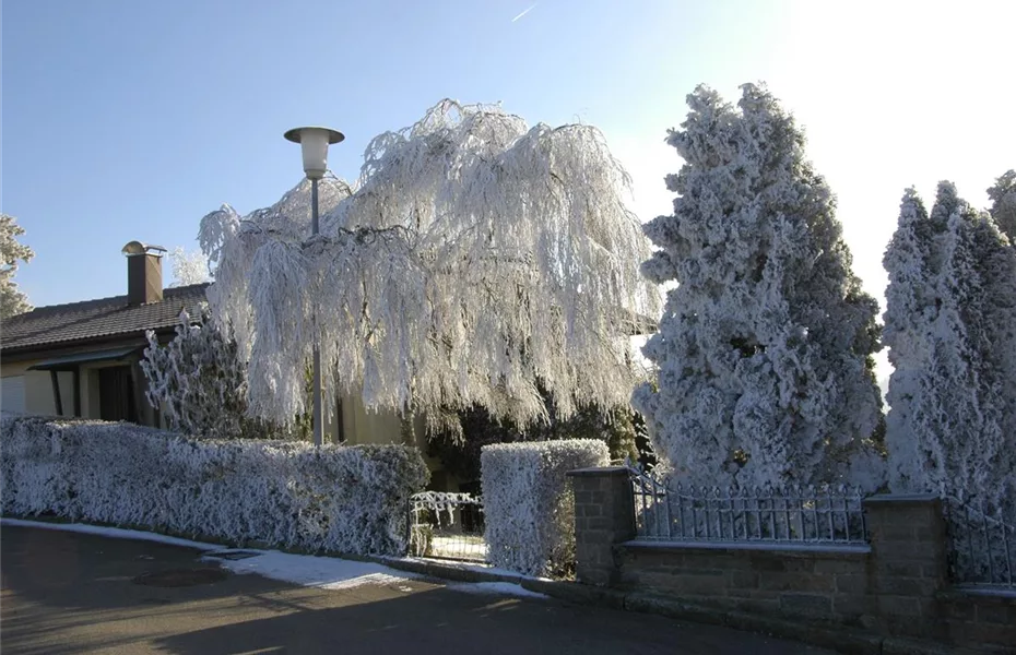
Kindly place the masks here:
MULTIPOLYGON (((181 546, 184 548, 196 548, 208 551, 202 556, 204 560, 214 560, 224 569, 243 575, 246 573, 256 573, 298 584, 302 586, 311 586, 326 590, 351 590, 363 585, 398 585, 397 588, 402 592, 411 591, 404 583, 410 580, 418 579, 415 573, 407 573, 389 569, 382 564, 373 562, 361 562, 344 560, 334 557, 316 557, 311 555, 291 555, 277 550, 256 550, 244 548, 244 552, 257 553, 256 557, 249 557, 239 560, 220 559, 216 555, 227 555, 236 552, 238 549, 224 548, 220 544, 208 544, 203 541, 192 541, 178 537, 169 537, 156 533, 141 532, 135 529, 123 529, 120 527, 106 527, 102 525, 87 525, 84 523, 47 523, 42 521, 24 521, 21 519, 0 519, 0 526, 9 525, 11 527, 35 527, 43 529, 59 529, 86 535, 97 535, 101 537, 110 537, 114 539, 138 539, 143 541, 155 541, 169 546, 181 546)), ((395 558, 390 558, 395 559, 395 558)), ((426 561, 426 560, 416 560, 426 561)), ((483 565, 463 565, 462 568, 475 569, 484 572, 496 572, 501 574, 518 576, 518 573, 501 571, 491 567, 483 565)), ((539 597, 545 598, 543 594, 530 592, 517 584, 508 582, 481 582, 481 583, 454 583, 446 585, 447 588, 457 592, 466 592, 474 594, 503 594, 509 596, 539 597)))

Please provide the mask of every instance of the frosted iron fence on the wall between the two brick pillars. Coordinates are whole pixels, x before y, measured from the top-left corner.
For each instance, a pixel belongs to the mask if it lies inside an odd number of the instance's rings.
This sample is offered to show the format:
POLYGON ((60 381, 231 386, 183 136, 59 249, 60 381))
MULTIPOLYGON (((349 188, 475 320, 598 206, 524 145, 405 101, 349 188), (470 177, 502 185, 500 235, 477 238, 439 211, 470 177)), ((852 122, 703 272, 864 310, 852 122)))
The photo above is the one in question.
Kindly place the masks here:
POLYGON ((864 545, 860 489, 694 488, 629 467, 639 539, 864 545))

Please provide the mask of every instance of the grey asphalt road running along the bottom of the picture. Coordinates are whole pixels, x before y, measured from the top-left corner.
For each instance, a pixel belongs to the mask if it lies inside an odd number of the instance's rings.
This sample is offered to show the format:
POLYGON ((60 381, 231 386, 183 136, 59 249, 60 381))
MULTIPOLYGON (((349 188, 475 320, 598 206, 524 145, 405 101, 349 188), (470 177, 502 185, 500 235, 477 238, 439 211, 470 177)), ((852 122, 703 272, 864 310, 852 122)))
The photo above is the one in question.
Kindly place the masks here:
POLYGON ((189 548, 0 526, 0 654, 830 653, 650 615, 463 593, 439 581, 321 590, 212 570, 191 586, 141 583, 208 567, 189 548))

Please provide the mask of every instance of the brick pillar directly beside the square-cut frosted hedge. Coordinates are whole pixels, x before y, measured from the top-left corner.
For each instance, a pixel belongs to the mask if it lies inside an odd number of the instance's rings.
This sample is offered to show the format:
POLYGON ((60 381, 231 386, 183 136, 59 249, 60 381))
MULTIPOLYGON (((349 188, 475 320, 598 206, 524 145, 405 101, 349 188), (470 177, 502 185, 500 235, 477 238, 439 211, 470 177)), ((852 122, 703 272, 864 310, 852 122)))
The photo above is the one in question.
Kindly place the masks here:
POLYGON ((575 490, 576 579, 610 585, 621 577, 614 545, 635 538, 635 500, 624 466, 568 473, 575 490))

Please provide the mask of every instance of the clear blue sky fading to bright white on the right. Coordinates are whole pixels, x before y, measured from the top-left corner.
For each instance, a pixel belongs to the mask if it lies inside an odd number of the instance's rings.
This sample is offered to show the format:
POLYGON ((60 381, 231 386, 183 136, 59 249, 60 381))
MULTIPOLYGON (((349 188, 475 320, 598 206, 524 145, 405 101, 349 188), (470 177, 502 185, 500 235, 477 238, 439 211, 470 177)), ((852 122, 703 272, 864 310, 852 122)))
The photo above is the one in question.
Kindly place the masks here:
POLYGON ((126 293, 127 241, 194 249, 221 203, 277 200, 303 175, 287 128, 345 132, 329 163, 352 179, 370 138, 444 97, 600 127, 649 219, 685 95, 768 81, 878 296, 906 186, 983 204, 1016 167, 1011 3, 0 2, 0 210, 36 251, 16 278, 36 306, 126 293))

